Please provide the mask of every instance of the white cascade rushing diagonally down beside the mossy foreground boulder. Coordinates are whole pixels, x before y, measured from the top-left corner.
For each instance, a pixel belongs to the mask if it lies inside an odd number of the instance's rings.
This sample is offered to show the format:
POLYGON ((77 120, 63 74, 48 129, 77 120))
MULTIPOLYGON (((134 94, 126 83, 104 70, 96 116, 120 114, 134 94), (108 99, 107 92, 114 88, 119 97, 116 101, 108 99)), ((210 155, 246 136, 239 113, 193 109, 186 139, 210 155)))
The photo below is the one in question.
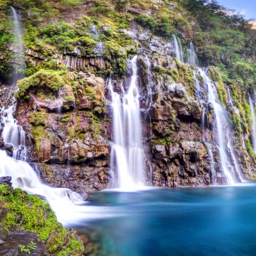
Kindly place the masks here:
POLYGON ((4 129, 1 134, 4 143, 13 145, 13 158, 8 157, 6 152, 0 150, 0 177, 11 176, 14 188, 22 188, 30 194, 44 196, 58 220, 67 220, 65 212, 72 211, 75 205, 83 201, 76 192, 67 188, 52 188, 45 185, 31 166, 26 163, 25 132, 22 126, 13 118, 15 105, 8 109, 2 109, 2 123, 4 129))

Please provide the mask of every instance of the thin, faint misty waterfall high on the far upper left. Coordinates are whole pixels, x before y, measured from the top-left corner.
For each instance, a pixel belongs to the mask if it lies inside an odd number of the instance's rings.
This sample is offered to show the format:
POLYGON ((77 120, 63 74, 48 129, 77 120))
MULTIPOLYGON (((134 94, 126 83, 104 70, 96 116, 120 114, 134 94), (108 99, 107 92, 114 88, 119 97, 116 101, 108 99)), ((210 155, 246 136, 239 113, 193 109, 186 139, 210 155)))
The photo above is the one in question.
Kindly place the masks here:
MULTIPOLYGON (((24 49, 23 49, 23 37, 22 37, 22 30, 20 28, 19 18, 17 16, 17 12, 15 9, 10 6, 12 17, 13 17, 13 34, 14 34, 14 62, 17 63, 20 68, 25 68, 24 63, 24 49)), ((19 72, 19 74, 15 74, 12 79, 12 85, 14 85, 18 79, 22 79, 24 77, 24 73, 19 72)))

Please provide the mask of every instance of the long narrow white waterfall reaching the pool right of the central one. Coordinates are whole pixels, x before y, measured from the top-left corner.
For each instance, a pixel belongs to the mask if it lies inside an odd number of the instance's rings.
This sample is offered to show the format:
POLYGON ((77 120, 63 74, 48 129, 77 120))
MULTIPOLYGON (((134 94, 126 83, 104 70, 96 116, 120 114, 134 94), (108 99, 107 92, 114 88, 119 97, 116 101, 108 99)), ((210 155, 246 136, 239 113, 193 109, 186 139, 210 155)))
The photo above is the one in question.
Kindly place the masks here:
MULTIPOLYGON (((198 69, 198 73, 200 74, 200 76, 204 78, 204 84, 207 87, 207 91, 208 91, 208 102, 212 103, 214 113, 216 116, 216 129, 218 134, 218 148, 220 152, 221 166, 223 168, 223 172, 227 179, 228 185, 235 184, 235 180, 233 178, 235 170, 232 167, 232 164, 230 163, 230 161, 228 160, 227 150, 225 148, 225 143, 226 143, 225 139, 227 136, 227 131, 225 129, 225 126, 227 126, 227 120, 226 120, 225 110, 221 106, 218 99, 218 93, 216 92, 216 83, 214 83, 213 81, 211 81, 211 79, 209 79, 209 77, 207 76, 207 74, 205 74, 202 68, 198 69)), ((232 148, 231 143, 228 143, 228 144, 229 144, 228 147, 232 148)))

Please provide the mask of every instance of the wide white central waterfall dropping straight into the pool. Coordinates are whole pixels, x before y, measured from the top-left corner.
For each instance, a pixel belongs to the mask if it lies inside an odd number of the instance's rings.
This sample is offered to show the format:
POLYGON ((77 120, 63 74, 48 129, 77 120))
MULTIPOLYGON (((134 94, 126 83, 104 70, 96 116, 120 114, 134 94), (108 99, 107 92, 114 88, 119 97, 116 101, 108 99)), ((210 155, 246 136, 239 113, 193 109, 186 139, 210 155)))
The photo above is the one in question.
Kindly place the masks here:
POLYGON ((116 166, 118 187, 136 189, 143 185, 144 152, 141 138, 140 95, 137 88, 137 58, 132 58, 132 77, 127 92, 114 92, 109 79, 113 110, 112 161, 116 166))

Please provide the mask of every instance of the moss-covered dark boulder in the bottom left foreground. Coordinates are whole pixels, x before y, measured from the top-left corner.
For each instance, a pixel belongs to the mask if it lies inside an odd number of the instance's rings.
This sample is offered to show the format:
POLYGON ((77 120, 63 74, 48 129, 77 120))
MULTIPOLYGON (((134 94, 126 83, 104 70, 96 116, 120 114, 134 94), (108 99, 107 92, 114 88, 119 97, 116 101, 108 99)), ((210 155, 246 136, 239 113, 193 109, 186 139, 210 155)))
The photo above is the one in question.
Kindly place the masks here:
POLYGON ((20 243, 15 242, 14 247, 14 242, 1 244, 0 251, 6 255, 13 250, 18 254, 12 255, 20 255, 22 250, 32 255, 83 255, 83 242, 76 232, 63 228, 47 202, 19 188, 0 185, 0 223, 0 238, 6 242, 19 239, 20 243))

